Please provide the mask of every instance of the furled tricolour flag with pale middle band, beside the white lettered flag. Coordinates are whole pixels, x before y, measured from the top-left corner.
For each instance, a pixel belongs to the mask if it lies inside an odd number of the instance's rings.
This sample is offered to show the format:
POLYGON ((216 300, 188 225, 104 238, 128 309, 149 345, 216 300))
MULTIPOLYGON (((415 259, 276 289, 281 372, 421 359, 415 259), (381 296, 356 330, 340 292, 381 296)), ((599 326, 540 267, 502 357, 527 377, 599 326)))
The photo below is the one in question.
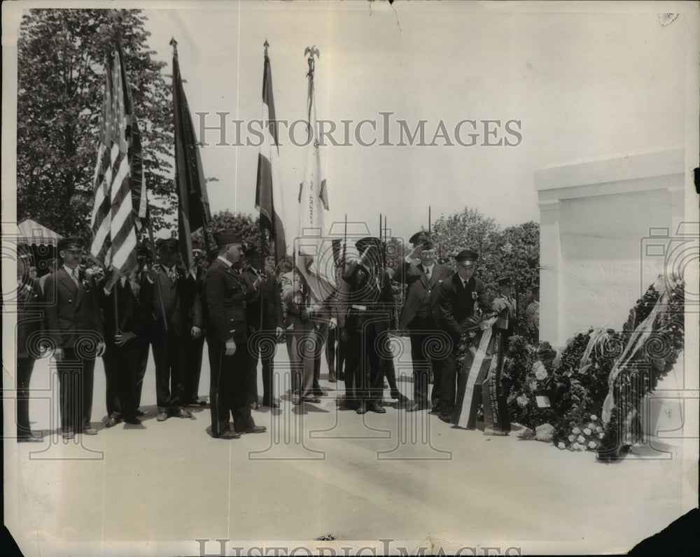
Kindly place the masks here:
POLYGON ((277 173, 279 136, 272 98, 272 70, 267 57, 265 41, 265 66, 262 71, 262 122, 266 122, 265 141, 258 153, 258 181, 255 186, 255 209, 260 211, 260 227, 269 230, 274 239, 274 260, 280 262, 287 253, 284 237, 282 188, 277 173))

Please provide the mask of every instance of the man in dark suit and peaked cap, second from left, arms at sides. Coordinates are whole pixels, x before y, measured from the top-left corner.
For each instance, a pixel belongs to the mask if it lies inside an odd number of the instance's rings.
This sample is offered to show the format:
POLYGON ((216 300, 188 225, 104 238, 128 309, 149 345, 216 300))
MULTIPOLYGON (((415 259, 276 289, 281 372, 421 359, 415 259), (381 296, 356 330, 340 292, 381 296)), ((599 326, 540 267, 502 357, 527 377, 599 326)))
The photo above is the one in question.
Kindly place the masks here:
POLYGON ((83 241, 63 238, 57 251, 63 266, 44 284, 46 329, 55 344, 62 433, 72 439, 80 432, 97 435, 89 415, 94 358, 104 353, 104 323, 94 279, 78 267, 83 241))

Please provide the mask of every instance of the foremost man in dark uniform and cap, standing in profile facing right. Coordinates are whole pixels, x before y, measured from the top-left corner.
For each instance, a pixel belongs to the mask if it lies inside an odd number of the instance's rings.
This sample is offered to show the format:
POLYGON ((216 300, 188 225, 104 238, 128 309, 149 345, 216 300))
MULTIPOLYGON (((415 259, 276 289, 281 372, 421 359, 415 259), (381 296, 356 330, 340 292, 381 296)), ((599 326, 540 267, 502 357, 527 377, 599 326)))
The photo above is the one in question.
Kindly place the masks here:
MULTIPOLYGON (((241 235, 235 230, 214 233, 218 257, 204 275, 204 290, 195 304, 195 325, 203 318, 209 347, 211 381, 211 437, 237 439, 241 433, 260 433, 265 426, 255 425, 251 416, 246 378, 246 300, 251 297, 248 285, 239 273, 242 255, 241 235), (234 430, 230 427, 233 415, 234 430)), ((262 279, 253 282, 253 290, 262 279)), ((209 429, 209 428, 208 428, 209 429)))

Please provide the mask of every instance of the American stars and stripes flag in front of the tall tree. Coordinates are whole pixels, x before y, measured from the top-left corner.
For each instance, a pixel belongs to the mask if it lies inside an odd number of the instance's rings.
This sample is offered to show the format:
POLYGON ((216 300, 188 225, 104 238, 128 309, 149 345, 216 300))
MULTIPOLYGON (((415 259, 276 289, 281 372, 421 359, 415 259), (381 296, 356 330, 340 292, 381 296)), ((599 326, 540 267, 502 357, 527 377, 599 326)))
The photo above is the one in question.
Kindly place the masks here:
POLYGON ((146 187, 139 127, 121 45, 107 57, 102 126, 94 169, 90 255, 111 270, 106 288, 137 264, 138 220, 146 218, 146 187))

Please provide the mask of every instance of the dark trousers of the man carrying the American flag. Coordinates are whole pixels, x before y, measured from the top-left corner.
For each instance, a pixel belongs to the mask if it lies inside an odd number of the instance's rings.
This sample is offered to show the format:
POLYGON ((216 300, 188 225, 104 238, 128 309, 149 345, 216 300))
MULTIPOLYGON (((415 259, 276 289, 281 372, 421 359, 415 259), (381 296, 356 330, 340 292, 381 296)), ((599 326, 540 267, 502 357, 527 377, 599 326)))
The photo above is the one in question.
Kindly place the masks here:
POLYGON ((107 416, 134 420, 137 409, 137 372, 141 343, 131 339, 121 347, 107 344, 104 362, 107 416))

